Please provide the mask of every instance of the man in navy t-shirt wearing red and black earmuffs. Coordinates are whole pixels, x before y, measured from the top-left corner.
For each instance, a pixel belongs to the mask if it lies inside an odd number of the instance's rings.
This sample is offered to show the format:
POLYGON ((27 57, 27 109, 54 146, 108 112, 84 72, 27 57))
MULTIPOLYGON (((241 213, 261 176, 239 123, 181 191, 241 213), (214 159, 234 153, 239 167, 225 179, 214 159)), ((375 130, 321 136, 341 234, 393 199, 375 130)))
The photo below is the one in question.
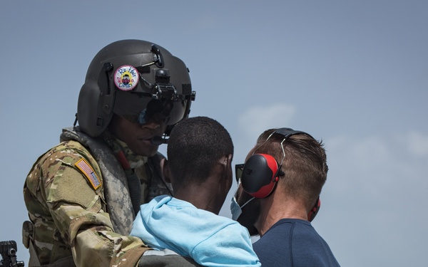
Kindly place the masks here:
POLYGON ((235 166, 238 190, 230 209, 247 227, 264 267, 340 266, 310 221, 327 178, 322 142, 290 128, 258 137, 245 164, 235 166))

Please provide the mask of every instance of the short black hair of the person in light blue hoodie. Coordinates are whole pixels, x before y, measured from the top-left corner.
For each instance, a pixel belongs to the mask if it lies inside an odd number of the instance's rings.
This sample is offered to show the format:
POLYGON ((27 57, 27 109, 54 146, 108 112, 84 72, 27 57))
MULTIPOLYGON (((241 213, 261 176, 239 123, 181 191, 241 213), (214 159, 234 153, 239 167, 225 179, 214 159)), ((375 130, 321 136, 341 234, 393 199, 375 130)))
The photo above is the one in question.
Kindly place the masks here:
POLYGON ((167 156, 170 172, 180 187, 200 185, 221 157, 233 155, 229 132, 210 117, 189 117, 170 133, 167 156))

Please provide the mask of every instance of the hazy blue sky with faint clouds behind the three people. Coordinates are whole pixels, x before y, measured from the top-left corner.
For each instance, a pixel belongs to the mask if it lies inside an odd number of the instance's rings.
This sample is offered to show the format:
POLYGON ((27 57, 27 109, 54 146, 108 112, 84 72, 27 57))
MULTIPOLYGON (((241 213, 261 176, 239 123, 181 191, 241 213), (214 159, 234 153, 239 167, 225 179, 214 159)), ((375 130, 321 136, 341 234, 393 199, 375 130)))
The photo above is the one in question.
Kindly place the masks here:
POLYGON ((0 241, 28 261, 26 174, 73 125, 93 56, 136 38, 185 62, 190 116, 228 129, 233 164, 272 127, 325 143, 312 225, 341 266, 425 266, 427 14, 422 0, 2 1, 0 241))

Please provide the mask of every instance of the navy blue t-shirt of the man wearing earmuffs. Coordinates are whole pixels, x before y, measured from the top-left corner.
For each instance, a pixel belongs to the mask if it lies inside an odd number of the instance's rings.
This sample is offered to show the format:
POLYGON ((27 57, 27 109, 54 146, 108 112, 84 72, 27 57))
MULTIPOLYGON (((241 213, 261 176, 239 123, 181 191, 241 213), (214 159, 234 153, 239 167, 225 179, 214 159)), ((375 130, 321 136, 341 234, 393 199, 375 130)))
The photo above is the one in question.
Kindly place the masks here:
POLYGON ((309 221, 281 219, 253 244, 263 267, 340 266, 309 221))

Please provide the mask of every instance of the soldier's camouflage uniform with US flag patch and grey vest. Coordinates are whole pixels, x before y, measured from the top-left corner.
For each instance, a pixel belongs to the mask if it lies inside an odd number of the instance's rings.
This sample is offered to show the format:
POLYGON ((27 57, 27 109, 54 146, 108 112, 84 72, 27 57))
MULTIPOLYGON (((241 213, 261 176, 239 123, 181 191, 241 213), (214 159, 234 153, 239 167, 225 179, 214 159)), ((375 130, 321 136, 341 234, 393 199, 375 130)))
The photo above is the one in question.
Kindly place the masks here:
POLYGON ((132 202, 168 194, 156 172, 161 155, 139 157, 111 135, 91 138, 71 129, 61 141, 39 157, 24 184, 29 266, 136 266, 149 248, 128 236, 137 212, 132 202), (116 159, 120 151, 130 168, 116 159))

